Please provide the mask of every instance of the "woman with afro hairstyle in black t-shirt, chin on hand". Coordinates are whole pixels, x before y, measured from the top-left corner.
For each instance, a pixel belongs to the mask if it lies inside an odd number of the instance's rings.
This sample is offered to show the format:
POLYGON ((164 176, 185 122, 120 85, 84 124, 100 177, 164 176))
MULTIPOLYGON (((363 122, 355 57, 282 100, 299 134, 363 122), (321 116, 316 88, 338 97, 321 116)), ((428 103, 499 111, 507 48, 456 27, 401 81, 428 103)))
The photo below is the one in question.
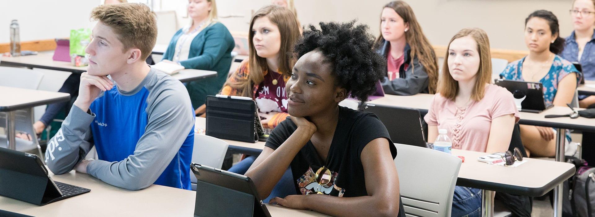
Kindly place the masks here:
POLYGON ((250 177, 268 197, 290 166, 297 195, 270 203, 333 216, 405 216, 400 202, 397 150, 374 114, 339 102, 362 102, 384 76, 365 25, 309 25, 295 45, 298 58, 286 83, 290 117, 271 133, 250 177))

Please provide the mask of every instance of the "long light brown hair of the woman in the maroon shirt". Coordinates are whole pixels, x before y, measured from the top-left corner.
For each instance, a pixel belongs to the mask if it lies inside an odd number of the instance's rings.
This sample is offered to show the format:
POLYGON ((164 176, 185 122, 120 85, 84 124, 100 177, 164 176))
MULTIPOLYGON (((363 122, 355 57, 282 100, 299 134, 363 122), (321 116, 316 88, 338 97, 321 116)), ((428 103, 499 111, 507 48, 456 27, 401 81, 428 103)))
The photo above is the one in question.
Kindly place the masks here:
POLYGON ((293 45, 300 37, 299 26, 293 12, 287 8, 277 5, 268 5, 262 7, 253 15, 250 20, 250 33, 248 34, 248 46, 250 47, 250 54, 248 65, 250 73, 247 80, 235 80, 233 77, 227 80, 225 85, 229 85, 233 89, 240 89, 242 96, 252 98, 252 88, 254 84, 260 84, 264 80, 264 71, 274 70, 283 73, 283 76, 291 76, 295 58, 292 58, 290 52, 293 50, 293 45), (279 33, 281 34, 281 46, 278 53, 279 68, 268 68, 267 59, 262 58, 256 54, 254 43, 254 32, 252 26, 254 21, 260 17, 267 17, 271 23, 277 25, 279 33))

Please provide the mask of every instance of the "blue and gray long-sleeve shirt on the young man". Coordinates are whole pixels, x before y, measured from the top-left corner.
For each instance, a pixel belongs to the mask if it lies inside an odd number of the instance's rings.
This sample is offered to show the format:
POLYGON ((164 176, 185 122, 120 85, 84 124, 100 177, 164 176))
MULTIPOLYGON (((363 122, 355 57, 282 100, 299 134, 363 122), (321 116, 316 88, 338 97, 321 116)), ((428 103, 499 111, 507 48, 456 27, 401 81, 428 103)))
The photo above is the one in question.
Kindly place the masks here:
POLYGON ((95 146, 87 172, 108 184, 140 190, 151 184, 190 189, 195 115, 180 81, 151 69, 134 90, 102 92, 89 112, 73 106, 48 141, 46 163, 70 172, 95 146))

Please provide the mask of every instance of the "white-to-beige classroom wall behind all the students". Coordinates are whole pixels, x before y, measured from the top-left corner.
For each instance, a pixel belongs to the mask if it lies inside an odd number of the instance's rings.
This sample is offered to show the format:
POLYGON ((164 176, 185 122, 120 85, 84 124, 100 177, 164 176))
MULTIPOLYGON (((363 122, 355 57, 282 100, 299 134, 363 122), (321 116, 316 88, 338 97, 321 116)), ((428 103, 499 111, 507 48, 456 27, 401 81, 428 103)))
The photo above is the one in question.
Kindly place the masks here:
MULTIPOLYGON (((136 0, 140 1, 140 0, 136 0)), ((145 0, 147 1, 147 0, 145 0)), ((446 45, 450 37, 464 27, 480 27, 490 37, 492 48, 525 50, 524 19, 531 12, 545 9, 554 12, 560 21, 562 36, 572 30, 568 14, 572 0, 405 0, 414 9, 424 33, 434 45, 446 45)), ((9 25, 18 19, 21 40, 68 37, 71 29, 91 27, 89 12, 98 0, 0 0, 0 43, 9 40, 9 25), (23 13, 23 11, 27 11, 23 13), (76 18, 74 18, 76 17, 76 18), (2 27, 4 25, 4 27, 2 27)), ((156 10, 179 11, 178 25, 188 18, 181 17, 187 0, 152 0, 156 10)), ((217 0, 220 18, 232 32, 248 32, 251 12, 270 0, 217 0)), ((358 18, 378 35, 381 7, 388 0, 296 0, 297 15, 303 24, 320 21, 349 21, 358 18)))

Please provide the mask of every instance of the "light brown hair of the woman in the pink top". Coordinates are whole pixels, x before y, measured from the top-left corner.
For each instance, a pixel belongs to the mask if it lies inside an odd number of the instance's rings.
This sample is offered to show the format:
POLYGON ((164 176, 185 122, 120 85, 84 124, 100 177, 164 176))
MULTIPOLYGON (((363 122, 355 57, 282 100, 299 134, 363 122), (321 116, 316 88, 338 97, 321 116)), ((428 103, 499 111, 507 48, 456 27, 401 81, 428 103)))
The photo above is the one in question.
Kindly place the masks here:
POLYGON ((455 34, 448 43, 446 49, 446 58, 444 58, 444 65, 442 68, 442 75, 440 77, 440 83, 438 85, 438 93, 444 96, 444 98, 455 100, 456 95, 459 93, 459 83, 450 76, 450 70, 448 66, 449 49, 450 43, 459 37, 471 36, 477 43, 477 52, 480 55, 480 68, 477 70, 477 80, 473 91, 471 92, 471 99, 479 101, 483 99, 484 93, 486 92, 486 84, 490 83, 491 79, 491 55, 490 55, 490 40, 487 37, 487 33, 478 28, 465 28, 455 34))

